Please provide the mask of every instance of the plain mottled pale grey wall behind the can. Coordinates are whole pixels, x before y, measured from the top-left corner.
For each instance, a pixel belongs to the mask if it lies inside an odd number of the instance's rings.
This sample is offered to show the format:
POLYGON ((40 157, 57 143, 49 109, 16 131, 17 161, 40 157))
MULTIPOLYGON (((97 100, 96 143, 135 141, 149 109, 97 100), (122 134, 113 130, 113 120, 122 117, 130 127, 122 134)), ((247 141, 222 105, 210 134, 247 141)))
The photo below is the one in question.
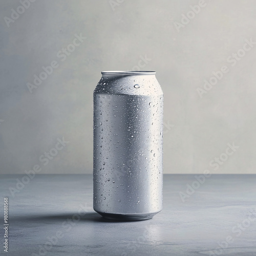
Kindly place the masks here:
POLYGON ((100 72, 139 65, 156 70, 164 91, 164 173, 256 173, 256 45, 241 50, 256 41, 255 1, 37 0, 24 12, 19 6, 0 3, 1 174, 24 174, 35 164, 40 174, 92 173, 92 94, 100 72), (198 4, 200 11, 191 12, 198 4), (21 14, 10 22, 12 9, 21 14), (183 22, 180 29, 176 22, 183 22), (65 60, 58 57, 80 33, 86 39, 65 60), (234 53, 241 56, 236 63, 234 53), (27 83, 54 60, 58 68, 30 93, 27 83), (197 89, 223 66, 228 72, 201 98, 197 89), (40 156, 55 153, 63 137, 69 143, 44 165, 40 156), (230 156, 227 143, 237 146, 230 156))

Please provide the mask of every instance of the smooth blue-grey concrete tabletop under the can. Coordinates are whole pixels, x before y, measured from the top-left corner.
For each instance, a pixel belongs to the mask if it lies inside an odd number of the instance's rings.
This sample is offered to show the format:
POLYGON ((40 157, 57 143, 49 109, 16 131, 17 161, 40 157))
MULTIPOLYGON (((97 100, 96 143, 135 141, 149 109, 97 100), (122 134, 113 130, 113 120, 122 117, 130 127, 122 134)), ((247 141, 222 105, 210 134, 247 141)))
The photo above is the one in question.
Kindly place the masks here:
POLYGON ((164 175, 163 210, 138 222, 108 221, 93 211, 92 175, 36 175, 12 196, 16 179, 23 176, 0 180, 1 201, 9 198, 3 255, 256 255, 255 175, 164 175), (189 185, 196 187, 190 195, 189 185))

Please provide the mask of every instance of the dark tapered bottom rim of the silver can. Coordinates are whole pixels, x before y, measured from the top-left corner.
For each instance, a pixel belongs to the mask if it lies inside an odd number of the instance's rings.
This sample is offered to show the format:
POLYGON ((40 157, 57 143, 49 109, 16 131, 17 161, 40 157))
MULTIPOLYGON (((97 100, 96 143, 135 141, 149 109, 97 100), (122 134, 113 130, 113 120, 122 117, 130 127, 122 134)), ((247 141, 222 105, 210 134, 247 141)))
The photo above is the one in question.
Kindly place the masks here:
POLYGON ((109 214, 107 212, 97 211, 103 218, 112 221, 144 221, 152 219, 158 212, 152 214, 109 214))

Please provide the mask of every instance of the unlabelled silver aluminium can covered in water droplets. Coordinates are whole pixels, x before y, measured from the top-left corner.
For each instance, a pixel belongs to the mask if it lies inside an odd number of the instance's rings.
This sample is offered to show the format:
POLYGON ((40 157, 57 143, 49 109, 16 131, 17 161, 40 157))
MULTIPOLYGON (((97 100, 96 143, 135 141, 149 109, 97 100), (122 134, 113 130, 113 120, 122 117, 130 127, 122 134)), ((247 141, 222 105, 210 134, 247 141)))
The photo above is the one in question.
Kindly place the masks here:
POLYGON ((106 219, 162 210, 163 92, 153 71, 101 72, 94 91, 93 207, 106 219))

